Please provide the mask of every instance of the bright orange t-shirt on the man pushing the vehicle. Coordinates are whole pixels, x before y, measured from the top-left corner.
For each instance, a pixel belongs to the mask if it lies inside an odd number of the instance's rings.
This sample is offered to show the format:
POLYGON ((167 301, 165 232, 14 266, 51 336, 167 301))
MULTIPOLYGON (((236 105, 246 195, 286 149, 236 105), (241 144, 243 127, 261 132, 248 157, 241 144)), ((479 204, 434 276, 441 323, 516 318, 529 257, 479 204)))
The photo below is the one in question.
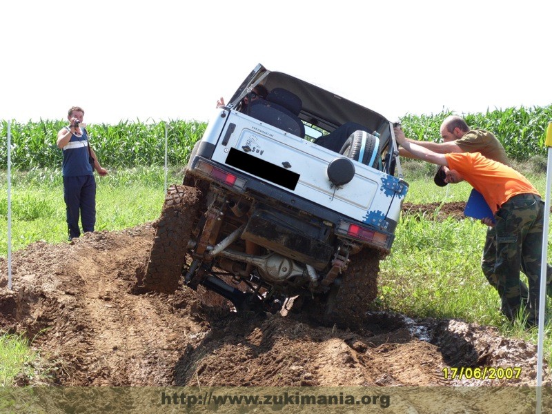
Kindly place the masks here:
POLYGON ((493 213, 514 195, 540 196, 533 184, 519 172, 485 158, 479 152, 455 152, 444 156, 449 168, 460 172, 462 177, 483 195, 493 213))

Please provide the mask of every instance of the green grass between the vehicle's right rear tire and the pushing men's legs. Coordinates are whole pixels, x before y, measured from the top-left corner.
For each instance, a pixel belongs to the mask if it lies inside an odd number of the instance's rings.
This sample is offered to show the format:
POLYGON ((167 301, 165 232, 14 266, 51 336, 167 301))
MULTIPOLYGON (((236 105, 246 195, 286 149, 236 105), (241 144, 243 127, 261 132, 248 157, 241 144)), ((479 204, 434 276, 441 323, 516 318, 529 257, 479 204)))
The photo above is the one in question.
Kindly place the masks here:
POLYGON ((471 219, 404 217, 393 253, 380 265, 382 302, 411 316, 480 320, 486 299, 497 299, 480 270, 484 235, 471 219))

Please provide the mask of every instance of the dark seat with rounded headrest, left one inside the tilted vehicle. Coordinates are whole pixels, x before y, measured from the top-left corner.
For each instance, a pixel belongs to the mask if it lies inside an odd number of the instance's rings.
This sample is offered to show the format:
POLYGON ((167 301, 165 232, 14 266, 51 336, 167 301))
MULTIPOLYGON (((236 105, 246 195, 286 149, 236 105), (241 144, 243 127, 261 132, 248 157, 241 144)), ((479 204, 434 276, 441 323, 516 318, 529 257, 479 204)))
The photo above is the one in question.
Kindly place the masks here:
POLYGON ((301 99, 294 93, 284 88, 274 88, 266 99, 252 101, 248 113, 259 121, 303 138, 305 126, 298 116, 302 106, 301 99))

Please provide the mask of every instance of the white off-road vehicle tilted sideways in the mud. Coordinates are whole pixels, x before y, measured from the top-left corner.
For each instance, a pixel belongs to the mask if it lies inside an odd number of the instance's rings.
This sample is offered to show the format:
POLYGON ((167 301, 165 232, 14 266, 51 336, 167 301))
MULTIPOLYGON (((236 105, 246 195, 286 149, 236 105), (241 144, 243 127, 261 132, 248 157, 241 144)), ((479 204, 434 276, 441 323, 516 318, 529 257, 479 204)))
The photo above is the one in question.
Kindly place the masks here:
POLYGON ((169 188, 143 285, 203 285, 238 311, 295 302, 358 324, 407 190, 391 121, 259 64, 169 188))

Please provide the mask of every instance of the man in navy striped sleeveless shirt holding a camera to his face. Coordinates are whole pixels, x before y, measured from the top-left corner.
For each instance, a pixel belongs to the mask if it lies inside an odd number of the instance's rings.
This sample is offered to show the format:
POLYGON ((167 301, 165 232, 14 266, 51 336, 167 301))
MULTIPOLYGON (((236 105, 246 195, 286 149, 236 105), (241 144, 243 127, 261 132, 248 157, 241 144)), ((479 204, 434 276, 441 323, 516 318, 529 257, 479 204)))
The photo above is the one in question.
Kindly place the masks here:
POLYGON ((63 150, 63 199, 67 206, 69 240, 83 232, 94 231, 96 223, 96 181, 94 170, 107 175, 88 144, 88 132, 82 124, 84 110, 73 106, 68 112, 69 126, 57 133, 57 146, 63 150))

